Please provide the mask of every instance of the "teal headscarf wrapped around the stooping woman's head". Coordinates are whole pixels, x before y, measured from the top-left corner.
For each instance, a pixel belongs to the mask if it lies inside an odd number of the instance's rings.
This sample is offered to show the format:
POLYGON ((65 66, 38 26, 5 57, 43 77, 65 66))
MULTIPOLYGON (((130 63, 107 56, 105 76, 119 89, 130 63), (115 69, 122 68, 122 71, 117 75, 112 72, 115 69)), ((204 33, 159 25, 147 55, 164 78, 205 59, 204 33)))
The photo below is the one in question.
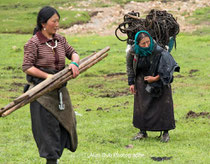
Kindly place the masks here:
POLYGON ((151 35, 147 32, 147 31, 139 31, 136 33, 135 35, 135 47, 134 47, 134 51, 136 54, 138 54, 139 56, 148 56, 149 54, 152 54, 154 48, 154 41, 151 37, 151 35), (148 35, 149 39, 150 39, 150 45, 149 47, 140 47, 139 46, 139 40, 138 40, 138 36, 141 33, 145 33, 146 35, 148 35))

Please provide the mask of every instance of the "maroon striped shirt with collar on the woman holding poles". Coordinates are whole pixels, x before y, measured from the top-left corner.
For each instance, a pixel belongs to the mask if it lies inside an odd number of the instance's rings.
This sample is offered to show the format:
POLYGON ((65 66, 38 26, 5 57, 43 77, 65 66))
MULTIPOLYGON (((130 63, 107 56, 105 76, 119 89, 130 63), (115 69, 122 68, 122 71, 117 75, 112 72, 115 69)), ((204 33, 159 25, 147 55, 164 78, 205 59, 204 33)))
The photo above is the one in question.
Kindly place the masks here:
POLYGON ((50 40, 39 31, 24 46, 22 70, 25 72, 34 66, 60 71, 65 67, 65 57, 71 60, 73 53, 76 51, 67 43, 65 37, 55 34, 50 40), (56 40, 57 47, 52 49, 50 46, 55 46, 56 40))

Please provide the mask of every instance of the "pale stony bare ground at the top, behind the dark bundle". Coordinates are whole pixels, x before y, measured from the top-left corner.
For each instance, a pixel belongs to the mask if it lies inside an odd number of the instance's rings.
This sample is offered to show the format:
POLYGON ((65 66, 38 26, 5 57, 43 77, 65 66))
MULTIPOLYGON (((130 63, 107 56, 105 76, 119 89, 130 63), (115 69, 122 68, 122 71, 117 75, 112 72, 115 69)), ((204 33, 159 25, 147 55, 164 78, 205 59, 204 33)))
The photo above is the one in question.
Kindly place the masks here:
MULTIPOLYGON (((93 8, 91 2, 96 0, 81 1, 82 8, 72 8, 69 10, 83 10, 92 13, 91 20, 86 24, 75 24, 68 29, 60 29, 59 32, 69 35, 114 35, 115 29, 123 22, 123 17, 130 11, 140 12, 140 16, 145 18, 151 9, 166 10, 177 18, 181 32, 195 31, 199 25, 188 24, 186 18, 191 16, 193 11, 201 7, 210 6, 209 0, 171 0, 134 2, 125 5, 114 5, 105 8, 93 8)), ((110 4, 107 0, 106 4, 110 4)))

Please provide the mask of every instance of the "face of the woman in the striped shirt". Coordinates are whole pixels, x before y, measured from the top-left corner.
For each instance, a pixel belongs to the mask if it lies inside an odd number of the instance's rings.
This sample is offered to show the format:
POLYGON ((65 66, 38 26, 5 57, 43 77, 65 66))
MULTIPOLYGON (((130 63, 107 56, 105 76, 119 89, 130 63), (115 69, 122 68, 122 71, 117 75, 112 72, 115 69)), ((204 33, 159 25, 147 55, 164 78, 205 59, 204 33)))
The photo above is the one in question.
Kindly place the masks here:
POLYGON ((57 14, 54 14, 50 19, 48 19, 47 23, 43 24, 43 28, 46 29, 46 32, 49 35, 53 35, 59 28, 59 17, 57 14))

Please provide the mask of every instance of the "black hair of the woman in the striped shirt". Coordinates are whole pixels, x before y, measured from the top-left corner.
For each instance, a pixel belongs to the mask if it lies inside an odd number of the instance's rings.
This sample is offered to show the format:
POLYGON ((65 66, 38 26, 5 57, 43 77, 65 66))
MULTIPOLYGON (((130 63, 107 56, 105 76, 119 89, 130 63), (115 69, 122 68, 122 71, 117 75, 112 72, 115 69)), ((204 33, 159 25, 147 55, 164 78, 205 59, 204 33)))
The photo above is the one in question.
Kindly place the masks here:
POLYGON ((47 23, 48 19, 50 19, 54 14, 57 14, 60 19, 60 14, 55 8, 50 6, 43 7, 38 13, 37 24, 36 27, 34 28, 33 35, 36 34, 38 31, 41 31, 42 23, 47 23))

